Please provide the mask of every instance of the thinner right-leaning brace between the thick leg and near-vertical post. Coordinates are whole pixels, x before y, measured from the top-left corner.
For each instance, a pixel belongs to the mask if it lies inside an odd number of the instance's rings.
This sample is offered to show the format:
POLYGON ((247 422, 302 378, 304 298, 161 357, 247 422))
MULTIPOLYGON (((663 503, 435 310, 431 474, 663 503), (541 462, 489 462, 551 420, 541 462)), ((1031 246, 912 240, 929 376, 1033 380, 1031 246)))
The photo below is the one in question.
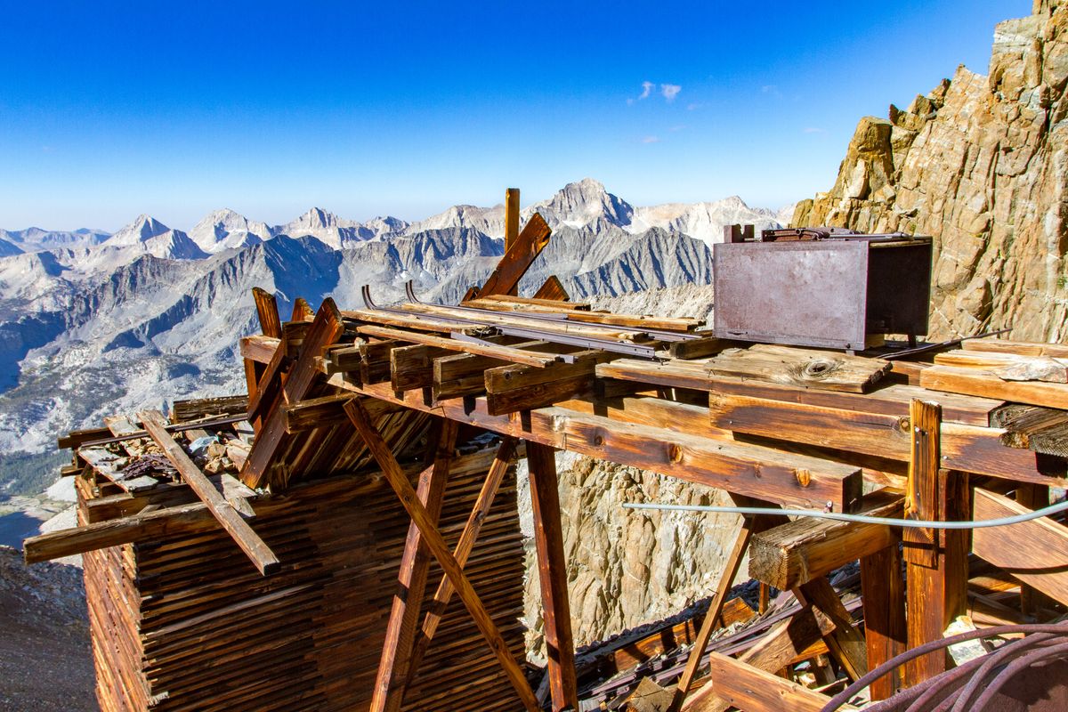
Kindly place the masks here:
MULTIPOLYGON (((489 510, 493 506, 493 499, 497 496, 497 491, 501 488, 504 475, 507 473, 508 468, 512 465, 512 460, 515 458, 518 442, 516 438, 505 436, 501 440, 501 444, 497 447, 497 455, 493 457, 492 464, 489 465, 489 472, 482 484, 477 499, 475 499, 471 516, 468 517, 468 521, 464 525, 464 531, 460 533, 456 549, 453 550, 453 556, 456 557, 456 563, 460 567, 467 565, 468 556, 471 555, 471 550, 474 549, 474 542, 482 531, 482 523, 489 515, 489 510)), ((441 619, 444 617, 445 610, 449 607, 449 602, 452 600, 456 588, 453 586, 453 582, 449 580, 449 576, 441 576, 438 590, 435 592, 434 600, 426 612, 426 617, 423 619, 422 630, 415 638, 415 644, 411 652, 411 661, 408 665, 406 687, 411 684, 412 679, 419 673, 419 664, 423 661, 423 656, 426 654, 426 650, 434 639, 435 633, 438 631, 438 626, 441 623, 441 619)))

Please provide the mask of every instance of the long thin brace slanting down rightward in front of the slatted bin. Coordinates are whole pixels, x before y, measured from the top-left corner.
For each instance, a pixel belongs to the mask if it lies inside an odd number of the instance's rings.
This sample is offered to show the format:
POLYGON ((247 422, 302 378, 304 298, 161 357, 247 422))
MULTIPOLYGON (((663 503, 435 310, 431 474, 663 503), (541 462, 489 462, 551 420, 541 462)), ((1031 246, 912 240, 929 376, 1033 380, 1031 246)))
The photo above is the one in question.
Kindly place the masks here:
POLYGON ((512 686, 519 695, 523 707, 530 710, 530 712, 537 712, 540 706, 537 702, 534 691, 531 690, 530 683, 527 681, 527 677, 523 675, 522 668, 516 662, 516 659, 512 656, 507 643, 501 636, 497 624, 493 623, 492 618, 486 612, 486 606, 478 598, 474 587, 471 586, 471 582, 464 573, 462 567, 453 556, 452 552, 449 551, 449 545, 445 543, 444 538, 442 538, 441 533, 434 526, 426 508, 419 501, 415 490, 405 477, 396 458, 390 452, 389 445, 386 444, 381 433, 372 425, 363 405, 358 399, 354 399, 345 406, 345 410, 348 412, 352 425, 363 438, 378 465, 382 469, 382 474, 396 492, 400 504, 408 512, 408 516, 411 517, 415 526, 419 527, 430 553, 434 554, 438 564, 444 569, 449 580, 453 582, 453 586, 456 587, 456 595, 459 596, 460 601, 464 602, 468 613, 471 614, 471 618, 478 627, 483 637, 486 638, 486 643, 497 656, 498 662, 504 669, 505 676, 508 678, 508 682, 512 683, 512 686))

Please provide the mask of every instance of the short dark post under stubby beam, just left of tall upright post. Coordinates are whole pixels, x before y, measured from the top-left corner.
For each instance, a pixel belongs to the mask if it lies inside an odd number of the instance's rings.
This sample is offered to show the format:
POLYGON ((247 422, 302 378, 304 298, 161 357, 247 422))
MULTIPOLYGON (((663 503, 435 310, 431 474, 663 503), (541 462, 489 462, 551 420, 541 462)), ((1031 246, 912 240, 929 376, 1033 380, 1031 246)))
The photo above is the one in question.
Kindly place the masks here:
MULTIPOLYGON (((861 558, 861 588, 867 661, 874 669, 906 650, 905 579, 897 544, 861 558)), ((895 670, 871 683, 871 699, 886 699, 900 686, 900 670, 895 670)))

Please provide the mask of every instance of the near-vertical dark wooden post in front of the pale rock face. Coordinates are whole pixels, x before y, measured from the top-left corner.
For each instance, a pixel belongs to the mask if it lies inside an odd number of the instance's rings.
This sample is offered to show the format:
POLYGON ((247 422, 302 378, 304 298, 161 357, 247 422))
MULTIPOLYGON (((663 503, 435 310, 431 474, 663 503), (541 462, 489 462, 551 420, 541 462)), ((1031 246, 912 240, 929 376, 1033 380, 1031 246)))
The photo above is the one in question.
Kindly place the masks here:
POLYGON ((549 691, 552 694, 553 712, 560 712, 568 708, 577 710, 579 693, 554 453, 547 445, 527 441, 527 464, 534 509, 534 543, 537 548, 538 582, 541 588, 541 619, 545 621, 546 652, 549 656, 549 691))

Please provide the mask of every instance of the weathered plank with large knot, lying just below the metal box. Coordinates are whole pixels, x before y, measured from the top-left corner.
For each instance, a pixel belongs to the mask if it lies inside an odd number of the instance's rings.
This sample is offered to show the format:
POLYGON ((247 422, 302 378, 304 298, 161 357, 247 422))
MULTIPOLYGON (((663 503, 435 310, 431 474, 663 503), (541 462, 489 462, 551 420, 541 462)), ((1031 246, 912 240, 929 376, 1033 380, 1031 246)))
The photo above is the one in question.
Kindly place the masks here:
POLYGON ((891 369, 890 362, 881 359, 771 344, 721 351, 707 366, 710 376, 851 393, 867 392, 891 369))

